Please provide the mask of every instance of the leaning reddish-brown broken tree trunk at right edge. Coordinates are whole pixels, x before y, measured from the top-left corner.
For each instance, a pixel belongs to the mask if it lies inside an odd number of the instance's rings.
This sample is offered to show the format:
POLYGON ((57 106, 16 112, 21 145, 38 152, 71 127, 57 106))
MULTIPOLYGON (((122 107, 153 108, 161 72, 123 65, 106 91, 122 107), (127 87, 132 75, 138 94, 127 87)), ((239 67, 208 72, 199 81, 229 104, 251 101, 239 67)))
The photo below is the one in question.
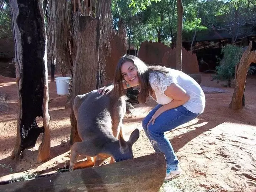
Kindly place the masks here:
POLYGON ((252 42, 242 54, 241 60, 236 67, 235 90, 229 107, 233 110, 242 108, 242 97, 244 95, 246 76, 252 62, 256 63, 256 51, 251 51, 252 42))

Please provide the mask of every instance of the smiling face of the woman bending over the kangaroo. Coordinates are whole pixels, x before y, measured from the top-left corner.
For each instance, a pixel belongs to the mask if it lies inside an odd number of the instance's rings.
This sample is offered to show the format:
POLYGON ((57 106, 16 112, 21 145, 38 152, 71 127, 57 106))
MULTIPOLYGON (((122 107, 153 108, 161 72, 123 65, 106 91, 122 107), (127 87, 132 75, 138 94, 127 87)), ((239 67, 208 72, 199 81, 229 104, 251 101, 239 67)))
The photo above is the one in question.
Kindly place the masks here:
POLYGON ((137 69, 132 62, 127 61, 122 64, 121 75, 130 87, 139 85, 137 69))

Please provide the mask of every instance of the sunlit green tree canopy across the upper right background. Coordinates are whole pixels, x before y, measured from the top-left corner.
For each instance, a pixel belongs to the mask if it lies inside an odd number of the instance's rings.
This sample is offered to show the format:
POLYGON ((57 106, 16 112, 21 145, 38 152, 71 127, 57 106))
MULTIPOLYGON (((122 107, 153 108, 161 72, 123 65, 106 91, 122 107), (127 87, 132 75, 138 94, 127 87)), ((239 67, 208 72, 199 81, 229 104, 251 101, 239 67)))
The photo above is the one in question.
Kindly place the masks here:
MULTIPOLYGON (((138 47, 143 41, 158 41, 159 32, 162 43, 170 46, 171 42, 176 41, 176 0, 114 0, 112 14, 116 29, 119 21, 117 4, 126 26, 127 38, 134 46, 138 47)), ((209 30, 215 28, 230 33, 235 42, 242 30, 233 27, 236 9, 234 7, 239 9, 238 21, 241 23, 256 15, 256 0, 182 0, 182 4, 183 40, 192 40, 195 32, 196 37, 206 35, 209 30)), ((251 31, 247 30, 244 36, 250 33, 251 31)))

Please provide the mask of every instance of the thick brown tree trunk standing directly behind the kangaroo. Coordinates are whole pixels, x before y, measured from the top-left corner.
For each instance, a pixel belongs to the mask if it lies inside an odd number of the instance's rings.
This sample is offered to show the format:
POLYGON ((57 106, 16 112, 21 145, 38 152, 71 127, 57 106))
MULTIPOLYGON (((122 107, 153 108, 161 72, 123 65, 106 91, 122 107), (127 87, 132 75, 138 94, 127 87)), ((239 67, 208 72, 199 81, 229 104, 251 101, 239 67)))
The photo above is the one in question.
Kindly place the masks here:
MULTIPOLYGON (((75 96, 96 89, 99 71, 100 19, 74 14, 74 40, 76 46, 73 69, 73 100, 75 96)), ((71 109, 70 143, 81 141, 76 119, 71 109)))

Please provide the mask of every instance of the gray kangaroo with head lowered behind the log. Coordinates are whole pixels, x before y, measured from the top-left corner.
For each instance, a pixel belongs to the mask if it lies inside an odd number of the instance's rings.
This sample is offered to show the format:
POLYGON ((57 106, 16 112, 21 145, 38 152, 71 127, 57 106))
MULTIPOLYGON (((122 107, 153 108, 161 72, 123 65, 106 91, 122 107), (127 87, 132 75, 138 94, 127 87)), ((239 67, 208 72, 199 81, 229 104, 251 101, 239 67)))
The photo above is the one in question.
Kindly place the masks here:
MULTIPOLYGON (((112 156, 116 162, 133 159, 132 145, 139 138, 139 130, 135 129, 127 142, 122 137, 122 119, 126 113, 124 97, 112 93, 100 95, 94 90, 76 96, 73 110, 82 142, 71 146, 70 171, 79 155, 86 155, 88 159, 102 154, 105 159, 112 156)), ((95 166, 103 161, 95 162, 95 166)))

